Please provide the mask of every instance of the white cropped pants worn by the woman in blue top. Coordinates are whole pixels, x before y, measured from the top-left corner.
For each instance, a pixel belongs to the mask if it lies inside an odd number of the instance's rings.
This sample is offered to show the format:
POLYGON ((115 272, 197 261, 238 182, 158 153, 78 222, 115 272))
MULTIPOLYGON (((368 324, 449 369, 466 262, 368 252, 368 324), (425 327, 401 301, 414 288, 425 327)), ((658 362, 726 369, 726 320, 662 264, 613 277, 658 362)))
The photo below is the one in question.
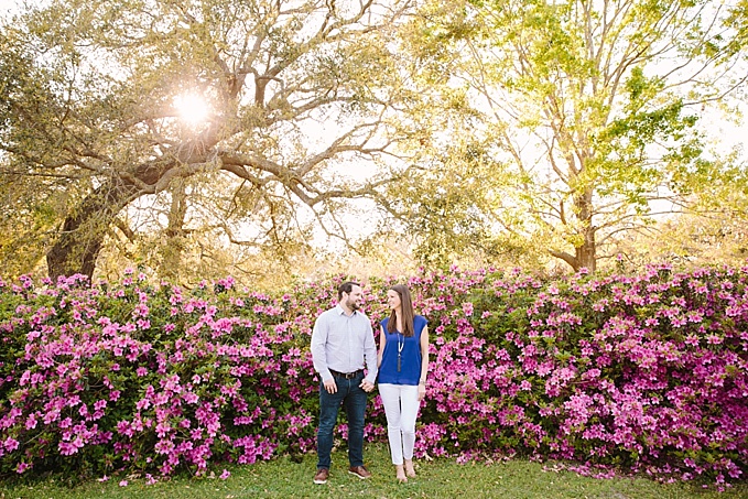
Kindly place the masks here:
POLYGON ((419 415, 419 387, 412 384, 380 384, 379 395, 382 398, 387 415, 387 436, 390 440, 392 464, 402 465, 405 459, 413 458, 415 445, 415 417, 419 415))

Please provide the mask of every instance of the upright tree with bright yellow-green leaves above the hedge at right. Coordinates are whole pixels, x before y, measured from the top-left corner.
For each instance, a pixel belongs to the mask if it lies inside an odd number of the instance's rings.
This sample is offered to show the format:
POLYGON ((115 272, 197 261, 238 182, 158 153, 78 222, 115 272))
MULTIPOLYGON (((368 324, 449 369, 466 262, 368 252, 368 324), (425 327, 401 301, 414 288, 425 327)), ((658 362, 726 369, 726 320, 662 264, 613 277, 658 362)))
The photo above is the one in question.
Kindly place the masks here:
POLYGON ((595 270, 600 248, 709 195, 733 165, 705 153, 700 118, 745 83, 739 3, 745 14, 745 2, 692 0, 425 6, 405 40, 444 89, 452 137, 466 137, 434 144, 444 174, 430 207, 469 189, 444 219, 458 237, 433 232, 432 250, 531 241, 595 270), (465 172, 480 182, 448 182, 465 172))

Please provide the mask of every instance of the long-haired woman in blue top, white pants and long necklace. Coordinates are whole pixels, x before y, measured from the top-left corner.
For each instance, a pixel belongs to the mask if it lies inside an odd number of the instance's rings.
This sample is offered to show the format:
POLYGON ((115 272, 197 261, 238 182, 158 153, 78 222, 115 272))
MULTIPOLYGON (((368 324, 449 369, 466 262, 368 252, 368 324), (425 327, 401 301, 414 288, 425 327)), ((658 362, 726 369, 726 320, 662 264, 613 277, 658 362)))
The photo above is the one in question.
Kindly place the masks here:
POLYGON ((398 480, 408 481, 415 476, 415 417, 426 394, 429 322, 415 315, 411 293, 402 284, 387 291, 387 303, 392 312, 379 333, 379 394, 387 414, 392 464, 398 480))

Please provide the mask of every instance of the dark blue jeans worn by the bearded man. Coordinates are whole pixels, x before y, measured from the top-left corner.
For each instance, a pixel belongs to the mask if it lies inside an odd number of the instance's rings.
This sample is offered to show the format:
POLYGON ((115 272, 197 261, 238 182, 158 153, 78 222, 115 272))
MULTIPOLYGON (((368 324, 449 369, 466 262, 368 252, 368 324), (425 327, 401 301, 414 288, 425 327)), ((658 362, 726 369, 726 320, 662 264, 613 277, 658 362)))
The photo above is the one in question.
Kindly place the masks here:
POLYGON ((366 414, 367 393, 359 384, 364 373, 351 379, 334 378, 337 392, 327 393, 319 382, 319 427, 317 430, 317 469, 329 469, 333 452, 333 430, 337 422, 337 413, 343 405, 348 416, 348 462, 350 466, 364 466, 364 416, 366 414))

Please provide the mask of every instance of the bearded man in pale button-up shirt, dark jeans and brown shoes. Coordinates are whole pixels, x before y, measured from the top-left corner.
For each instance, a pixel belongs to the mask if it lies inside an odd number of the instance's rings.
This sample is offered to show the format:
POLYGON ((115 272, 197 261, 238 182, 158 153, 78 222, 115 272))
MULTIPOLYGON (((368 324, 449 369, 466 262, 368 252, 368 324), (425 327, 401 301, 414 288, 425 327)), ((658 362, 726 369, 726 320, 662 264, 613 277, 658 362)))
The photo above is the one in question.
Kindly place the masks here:
POLYGON ((315 484, 326 484, 329 476, 333 430, 340 405, 348 416, 348 473, 359 478, 371 476, 364 467, 364 416, 367 393, 377 379, 377 347, 369 317, 359 311, 362 297, 359 283, 344 282, 338 288, 338 304, 321 314, 312 330, 312 359, 322 378, 315 484))

